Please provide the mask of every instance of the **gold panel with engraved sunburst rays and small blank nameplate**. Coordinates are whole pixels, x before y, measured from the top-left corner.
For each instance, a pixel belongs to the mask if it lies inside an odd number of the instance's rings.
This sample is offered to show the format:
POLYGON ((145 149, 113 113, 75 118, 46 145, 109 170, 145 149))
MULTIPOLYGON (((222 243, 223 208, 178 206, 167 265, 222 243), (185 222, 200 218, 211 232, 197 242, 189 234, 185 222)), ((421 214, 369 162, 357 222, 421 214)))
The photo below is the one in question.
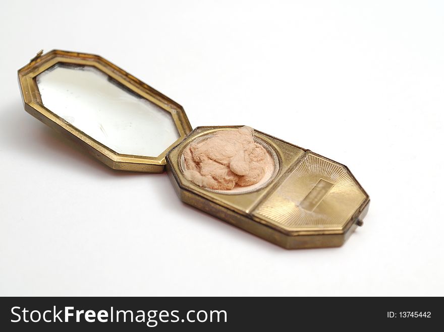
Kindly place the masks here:
POLYGON ((338 229, 365 197, 344 166, 309 153, 254 215, 288 231, 338 229))

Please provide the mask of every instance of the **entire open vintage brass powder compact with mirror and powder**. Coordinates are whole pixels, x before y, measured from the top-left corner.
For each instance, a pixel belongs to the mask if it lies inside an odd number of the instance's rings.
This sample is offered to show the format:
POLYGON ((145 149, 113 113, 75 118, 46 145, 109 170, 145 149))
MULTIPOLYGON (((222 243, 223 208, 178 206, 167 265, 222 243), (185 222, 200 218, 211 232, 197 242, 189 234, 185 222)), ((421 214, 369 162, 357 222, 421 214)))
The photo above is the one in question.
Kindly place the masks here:
POLYGON ((161 173, 181 200, 284 248, 338 247, 369 196, 350 170, 248 126, 192 130, 182 106, 98 55, 39 52, 25 110, 107 166, 161 173))

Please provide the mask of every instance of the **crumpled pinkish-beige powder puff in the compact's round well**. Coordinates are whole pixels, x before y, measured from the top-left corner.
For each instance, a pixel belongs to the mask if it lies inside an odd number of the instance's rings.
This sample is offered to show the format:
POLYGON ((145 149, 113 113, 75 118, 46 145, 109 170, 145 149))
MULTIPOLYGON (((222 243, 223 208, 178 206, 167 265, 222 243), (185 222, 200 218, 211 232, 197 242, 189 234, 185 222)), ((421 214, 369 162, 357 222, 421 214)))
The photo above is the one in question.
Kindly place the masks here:
POLYGON ((269 152, 255 142, 253 128, 219 130, 191 142, 183 153, 184 176, 213 190, 236 190, 268 180, 275 168, 269 152))

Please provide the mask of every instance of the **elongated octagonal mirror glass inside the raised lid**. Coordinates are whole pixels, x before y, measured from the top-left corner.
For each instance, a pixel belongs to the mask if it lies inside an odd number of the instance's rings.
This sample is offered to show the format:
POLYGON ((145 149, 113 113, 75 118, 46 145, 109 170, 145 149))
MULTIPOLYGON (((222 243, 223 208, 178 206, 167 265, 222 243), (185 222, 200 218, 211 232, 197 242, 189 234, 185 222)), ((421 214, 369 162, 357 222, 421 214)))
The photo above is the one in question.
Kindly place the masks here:
POLYGON ((94 67, 58 64, 36 82, 47 109, 117 153, 157 157, 180 137, 170 112, 94 67))

